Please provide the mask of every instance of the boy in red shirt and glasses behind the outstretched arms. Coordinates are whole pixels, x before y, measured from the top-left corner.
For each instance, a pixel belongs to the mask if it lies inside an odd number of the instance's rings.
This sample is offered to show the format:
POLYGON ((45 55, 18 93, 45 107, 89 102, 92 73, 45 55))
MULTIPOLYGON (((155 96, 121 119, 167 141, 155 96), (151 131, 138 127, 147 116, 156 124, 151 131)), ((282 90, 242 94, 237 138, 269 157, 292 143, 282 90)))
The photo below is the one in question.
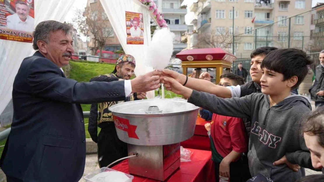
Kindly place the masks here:
MULTIPOLYGON (((226 73, 220 76, 219 85, 223 87, 238 84, 244 84, 244 81, 233 73, 226 73)), ((215 113, 212 115, 210 119, 212 122, 206 123, 205 128, 210 137, 216 181, 218 182, 220 177, 226 177, 231 182, 240 182, 243 168, 241 155, 248 149, 248 141, 242 119, 215 113)), ((204 115, 201 115, 201 117, 204 118, 204 115)))

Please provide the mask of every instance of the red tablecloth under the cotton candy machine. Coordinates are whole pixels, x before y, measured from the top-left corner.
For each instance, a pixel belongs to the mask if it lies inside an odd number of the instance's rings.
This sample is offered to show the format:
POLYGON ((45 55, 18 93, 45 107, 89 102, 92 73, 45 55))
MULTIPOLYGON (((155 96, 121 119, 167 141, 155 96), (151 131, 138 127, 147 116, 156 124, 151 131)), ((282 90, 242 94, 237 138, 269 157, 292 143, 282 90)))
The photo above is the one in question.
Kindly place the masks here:
MULTIPOLYGON (((205 150, 189 149, 191 162, 181 162, 177 169, 165 182, 214 182, 214 162, 211 160, 212 153, 205 150)), ((113 166, 112 169, 128 172, 128 159, 113 166)), ((133 182, 157 182, 158 180, 133 175, 133 182)))

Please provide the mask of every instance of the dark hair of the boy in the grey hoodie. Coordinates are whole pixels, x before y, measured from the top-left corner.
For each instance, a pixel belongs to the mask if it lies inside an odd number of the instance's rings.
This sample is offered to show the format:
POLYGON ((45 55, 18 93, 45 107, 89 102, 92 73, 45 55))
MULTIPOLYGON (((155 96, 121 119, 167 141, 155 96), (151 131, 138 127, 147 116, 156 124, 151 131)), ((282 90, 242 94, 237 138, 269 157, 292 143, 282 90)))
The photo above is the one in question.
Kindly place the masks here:
POLYGON ((308 59, 306 52, 299 49, 277 49, 267 54, 262 63, 261 69, 266 68, 284 75, 284 80, 297 76, 297 83, 291 88, 295 89, 307 75, 307 65, 313 61, 308 59))

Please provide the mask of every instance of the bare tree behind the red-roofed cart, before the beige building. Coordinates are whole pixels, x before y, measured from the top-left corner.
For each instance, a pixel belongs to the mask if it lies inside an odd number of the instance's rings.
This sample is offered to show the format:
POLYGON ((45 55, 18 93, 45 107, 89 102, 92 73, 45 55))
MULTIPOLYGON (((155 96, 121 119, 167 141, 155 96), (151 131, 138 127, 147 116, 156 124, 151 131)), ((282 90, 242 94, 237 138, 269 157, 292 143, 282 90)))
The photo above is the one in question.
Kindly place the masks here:
MULTIPOLYGON (((239 43, 240 37, 234 37, 235 43, 239 43)), ((198 34, 197 45, 193 48, 233 48, 233 34, 228 30, 210 30, 198 34)))

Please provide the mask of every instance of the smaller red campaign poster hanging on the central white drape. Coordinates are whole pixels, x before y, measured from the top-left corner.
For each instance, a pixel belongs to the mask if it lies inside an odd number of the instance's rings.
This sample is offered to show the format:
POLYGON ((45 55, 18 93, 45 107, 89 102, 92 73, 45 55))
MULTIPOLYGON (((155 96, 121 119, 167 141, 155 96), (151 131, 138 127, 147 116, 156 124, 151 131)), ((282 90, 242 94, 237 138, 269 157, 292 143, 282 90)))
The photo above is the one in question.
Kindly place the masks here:
POLYGON ((127 44, 144 44, 143 14, 126 11, 127 44))

